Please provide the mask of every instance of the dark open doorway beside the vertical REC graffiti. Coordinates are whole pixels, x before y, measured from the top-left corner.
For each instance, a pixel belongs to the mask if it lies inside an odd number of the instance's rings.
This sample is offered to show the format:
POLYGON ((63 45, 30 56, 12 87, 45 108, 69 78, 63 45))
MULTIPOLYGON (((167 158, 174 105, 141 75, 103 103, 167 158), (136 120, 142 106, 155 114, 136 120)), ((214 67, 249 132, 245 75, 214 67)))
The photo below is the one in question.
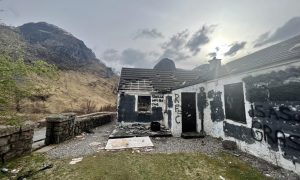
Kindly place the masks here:
POLYGON ((182 132, 196 131, 196 93, 181 93, 182 132))

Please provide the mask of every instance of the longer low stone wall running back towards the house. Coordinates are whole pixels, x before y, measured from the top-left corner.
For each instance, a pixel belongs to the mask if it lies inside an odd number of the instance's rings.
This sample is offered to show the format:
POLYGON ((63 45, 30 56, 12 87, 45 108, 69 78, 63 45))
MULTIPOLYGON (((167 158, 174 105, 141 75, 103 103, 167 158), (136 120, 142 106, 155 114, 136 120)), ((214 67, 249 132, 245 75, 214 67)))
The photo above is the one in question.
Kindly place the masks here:
POLYGON ((46 118, 45 144, 58 144, 87 132, 95 127, 109 123, 116 113, 94 113, 76 117, 74 113, 53 115, 46 118))

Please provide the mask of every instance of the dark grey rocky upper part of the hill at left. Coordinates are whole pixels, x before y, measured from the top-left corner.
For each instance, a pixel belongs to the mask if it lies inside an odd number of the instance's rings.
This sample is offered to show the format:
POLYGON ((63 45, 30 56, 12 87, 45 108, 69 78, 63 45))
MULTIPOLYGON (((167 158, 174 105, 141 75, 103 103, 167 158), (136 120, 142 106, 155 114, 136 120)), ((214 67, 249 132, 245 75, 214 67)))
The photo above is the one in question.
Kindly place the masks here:
POLYGON ((10 45, 12 51, 23 51, 28 62, 44 60, 62 70, 90 71, 102 77, 114 75, 83 41, 55 25, 39 22, 0 26, 0 47, 10 45))

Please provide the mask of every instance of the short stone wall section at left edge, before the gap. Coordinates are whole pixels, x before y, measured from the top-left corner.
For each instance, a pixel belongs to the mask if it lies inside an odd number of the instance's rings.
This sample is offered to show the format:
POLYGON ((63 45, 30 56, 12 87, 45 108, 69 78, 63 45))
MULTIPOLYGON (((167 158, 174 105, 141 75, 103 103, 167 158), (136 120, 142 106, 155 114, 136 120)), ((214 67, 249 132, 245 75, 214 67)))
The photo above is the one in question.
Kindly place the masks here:
POLYGON ((31 152, 34 126, 0 126, 0 156, 5 162, 31 152))

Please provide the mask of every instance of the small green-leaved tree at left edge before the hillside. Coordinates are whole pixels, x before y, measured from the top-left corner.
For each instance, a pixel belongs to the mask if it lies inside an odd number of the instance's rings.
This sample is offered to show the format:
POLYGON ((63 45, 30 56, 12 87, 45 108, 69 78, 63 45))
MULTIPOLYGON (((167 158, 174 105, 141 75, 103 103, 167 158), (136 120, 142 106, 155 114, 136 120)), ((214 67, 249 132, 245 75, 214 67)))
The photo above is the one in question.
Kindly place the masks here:
POLYGON ((48 86, 37 83, 40 77, 57 77, 57 68, 44 61, 25 63, 0 54, 0 115, 11 115, 11 107, 18 112, 24 98, 47 91, 48 86))

